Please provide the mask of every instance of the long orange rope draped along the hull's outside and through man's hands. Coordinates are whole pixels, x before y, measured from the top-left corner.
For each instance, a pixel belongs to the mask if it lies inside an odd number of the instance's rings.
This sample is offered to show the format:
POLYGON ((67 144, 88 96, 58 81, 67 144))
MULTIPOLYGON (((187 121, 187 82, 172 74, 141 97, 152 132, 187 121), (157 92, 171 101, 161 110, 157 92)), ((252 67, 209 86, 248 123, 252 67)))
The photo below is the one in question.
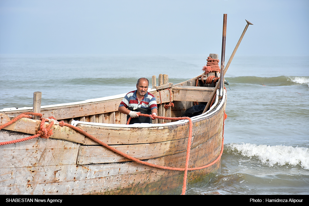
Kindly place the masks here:
MULTIPOLYGON (((31 116, 28 116, 27 114, 30 114, 30 115, 35 115, 35 116, 40 116, 42 117, 42 114, 38 114, 38 113, 32 113, 32 112, 25 112, 19 116, 17 116, 16 118, 14 118, 13 120, 11 120, 10 122, 0 126, 0 130, 2 128, 5 128, 6 126, 14 123, 15 121, 19 120, 20 118, 23 118, 23 117, 26 117, 26 118, 31 118, 31 116)), ((189 158, 190 158, 190 148, 191 148, 191 139, 192 139, 192 128, 193 128, 193 123, 191 121, 191 118, 189 117, 162 117, 162 116, 151 116, 151 115, 145 115, 145 114, 139 114, 140 116, 149 116, 149 117, 152 117, 152 118, 158 118, 158 119, 166 119, 166 120, 184 120, 184 119, 187 119, 189 121, 189 137, 188 137, 188 146, 187 146, 187 155, 186 155, 186 164, 185 164, 185 168, 176 168, 176 167, 166 167, 166 166, 159 166, 159 165, 155 165, 155 164, 151 164, 151 163, 148 163, 148 162, 143 162, 141 160, 138 160, 136 158, 133 158, 121 151, 118 151, 117 149, 114 149, 112 148, 111 146, 105 144, 104 142, 98 140, 97 138, 91 136, 90 134, 88 134, 87 132, 83 131, 82 129, 80 128, 77 128, 71 124, 67 124, 63 121, 59 122, 59 125, 60 126, 67 126, 69 128, 72 128, 78 132, 80 132, 81 134, 83 134, 85 137, 88 137, 90 138, 91 140, 99 143, 100 145, 106 147, 107 149, 117 153, 117 154, 120 154, 121 156, 125 157, 125 158, 128 158, 134 162, 138 162, 138 163, 141 163, 141 164, 144 164, 144 165, 147 165, 147 166, 151 166, 151 167, 155 167, 155 168, 159 168, 159 169, 165 169, 165 170, 176 170, 176 171, 184 171, 184 181, 183 181, 183 188, 182 188, 182 193, 181 195, 184 195, 185 194, 185 191, 186 191, 186 187, 187 187, 187 174, 188 174, 188 170, 200 170, 200 169, 204 169, 206 167, 209 167, 213 164, 215 164, 216 162, 218 162, 218 160, 220 160, 221 156, 222 156, 222 153, 223 153, 223 143, 224 143, 224 137, 223 137, 223 133, 224 133, 224 120, 226 119, 226 113, 224 111, 224 119, 223 119, 223 131, 222 131, 222 147, 221 147, 221 152, 218 156, 218 158, 216 160, 214 160, 213 162, 211 162, 210 164, 208 165, 205 165, 205 166, 201 166, 201 167, 196 167, 196 168, 188 168, 188 165, 189 165, 189 158)), ((50 119, 54 119, 53 117, 49 117, 50 119)), ((130 117, 131 118, 131 117, 130 117)), ((129 118, 129 120, 130 120, 129 118)), ((42 121, 41 121, 41 127, 40 127, 40 130, 42 128, 42 125, 44 125, 44 122, 46 121, 46 119, 44 118, 41 118, 42 121)), ((128 122, 129 122, 128 120, 128 122)), ((128 124, 128 123, 127 123, 128 124)), ((14 142, 13 141, 10 141, 10 143, 8 142, 1 142, 0 145, 6 145, 6 144, 12 144, 12 143, 16 143, 16 142, 21 142, 21 141, 26 141, 26 140, 30 140, 30 139, 33 139, 33 138, 36 138, 36 137, 39 137, 41 136, 42 138, 49 138, 50 135, 52 134, 51 132, 51 126, 53 125, 53 122, 50 123, 50 125, 48 126, 47 129, 49 129, 48 131, 44 131, 42 132, 44 135, 41 134, 41 132, 37 132, 36 135, 34 136, 31 136, 31 137, 27 137, 27 138, 23 138, 23 139, 19 139, 19 140, 15 140, 14 142), (46 134, 46 135, 45 135, 46 134)), ((43 126, 44 128, 44 126, 43 126)), ((39 131, 40 131, 39 130, 39 131)))

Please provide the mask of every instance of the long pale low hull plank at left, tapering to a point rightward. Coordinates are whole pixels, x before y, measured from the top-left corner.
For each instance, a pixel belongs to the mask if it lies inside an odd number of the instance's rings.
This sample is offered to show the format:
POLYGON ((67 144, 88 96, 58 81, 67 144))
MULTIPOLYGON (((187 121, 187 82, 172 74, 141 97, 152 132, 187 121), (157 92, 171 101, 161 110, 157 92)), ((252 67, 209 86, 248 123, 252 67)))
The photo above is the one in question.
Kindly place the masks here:
MULTIPOLYGON (((64 185, 68 181, 81 181, 87 179, 97 179, 111 177, 121 174, 132 174, 153 169, 150 166, 140 166, 138 164, 127 164, 125 169, 119 170, 119 164, 88 165, 87 167, 70 165, 53 166, 31 166, 17 168, 1 168, 0 178, 2 185, 26 186, 40 183, 61 183, 64 185), (12 178, 12 174, 15 178, 12 178), (35 177, 35 178, 33 178, 35 177)), ((77 187, 76 187, 77 188, 77 187)))

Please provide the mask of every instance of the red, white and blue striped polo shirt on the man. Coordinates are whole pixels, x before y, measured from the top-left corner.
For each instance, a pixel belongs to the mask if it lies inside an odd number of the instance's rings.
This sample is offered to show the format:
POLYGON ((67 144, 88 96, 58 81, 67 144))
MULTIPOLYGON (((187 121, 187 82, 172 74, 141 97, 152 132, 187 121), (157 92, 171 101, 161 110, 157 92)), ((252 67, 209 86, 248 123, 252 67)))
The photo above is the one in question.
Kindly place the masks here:
POLYGON ((136 91, 131 91, 125 97, 122 99, 119 107, 141 107, 150 110, 158 109, 157 107, 157 101, 155 99, 155 96, 147 92, 147 94, 144 96, 144 98, 141 100, 141 102, 138 102, 136 91))

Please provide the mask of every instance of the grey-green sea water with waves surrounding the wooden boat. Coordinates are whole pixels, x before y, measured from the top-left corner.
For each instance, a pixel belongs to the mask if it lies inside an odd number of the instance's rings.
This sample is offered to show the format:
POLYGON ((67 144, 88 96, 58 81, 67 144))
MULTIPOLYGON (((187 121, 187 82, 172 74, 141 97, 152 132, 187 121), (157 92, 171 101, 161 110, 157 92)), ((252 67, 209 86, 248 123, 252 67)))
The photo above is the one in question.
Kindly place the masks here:
MULTIPOLYGON (((2 54, 0 109, 31 107, 35 91, 50 105, 127 93, 140 77, 176 84, 202 74, 207 57, 2 54)), ((225 78, 221 172, 186 194, 308 195, 309 57, 236 54, 225 78)))

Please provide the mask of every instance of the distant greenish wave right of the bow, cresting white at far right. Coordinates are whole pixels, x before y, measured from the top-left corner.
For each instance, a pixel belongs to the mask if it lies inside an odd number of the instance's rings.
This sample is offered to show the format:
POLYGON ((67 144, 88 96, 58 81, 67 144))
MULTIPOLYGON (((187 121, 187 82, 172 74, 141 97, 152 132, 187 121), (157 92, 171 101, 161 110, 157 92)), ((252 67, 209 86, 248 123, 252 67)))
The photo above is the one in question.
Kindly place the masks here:
POLYGON ((309 77, 296 77, 296 76, 279 76, 279 77, 226 77, 231 84, 257 84, 263 86, 291 86, 307 84, 309 86, 309 77))

